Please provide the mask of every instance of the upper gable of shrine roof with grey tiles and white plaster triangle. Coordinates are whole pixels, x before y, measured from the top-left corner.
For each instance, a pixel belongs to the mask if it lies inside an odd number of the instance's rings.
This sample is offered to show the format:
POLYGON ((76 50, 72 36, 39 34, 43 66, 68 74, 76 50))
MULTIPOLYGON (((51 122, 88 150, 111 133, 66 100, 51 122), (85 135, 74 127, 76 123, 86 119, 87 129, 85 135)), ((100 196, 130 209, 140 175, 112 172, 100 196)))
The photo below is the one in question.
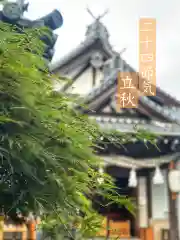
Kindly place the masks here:
MULTIPOLYGON (((120 71, 135 72, 122 59, 122 52, 119 54, 113 51, 106 27, 96 18, 87 29, 85 41, 52 65, 51 70, 73 79, 63 90, 82 95, 84 103, 89 106, 89 112, 180 122, 180 103, 159 88, 156 91, 157 96, 140 97, 137 109, 117 111, 113 99, 117 89, 117 75, 120 71), (173 107, 176 107, 177 111, 174 111, 173 107)), ((140 76, 139 79, 142 80, 140 76)))

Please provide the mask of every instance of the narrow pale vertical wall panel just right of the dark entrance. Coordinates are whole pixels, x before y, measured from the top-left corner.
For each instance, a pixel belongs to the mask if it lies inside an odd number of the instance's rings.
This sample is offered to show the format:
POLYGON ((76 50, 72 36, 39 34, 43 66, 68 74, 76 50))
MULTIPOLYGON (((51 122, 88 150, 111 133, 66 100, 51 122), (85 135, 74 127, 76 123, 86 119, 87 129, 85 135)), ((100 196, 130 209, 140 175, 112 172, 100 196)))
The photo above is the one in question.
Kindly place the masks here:
POLYGON ((147 209, 147 184, 146 178, 140 177, 138 180, 138 203, 139 203, 139 226, 148 227, 148 209, 147 209))

